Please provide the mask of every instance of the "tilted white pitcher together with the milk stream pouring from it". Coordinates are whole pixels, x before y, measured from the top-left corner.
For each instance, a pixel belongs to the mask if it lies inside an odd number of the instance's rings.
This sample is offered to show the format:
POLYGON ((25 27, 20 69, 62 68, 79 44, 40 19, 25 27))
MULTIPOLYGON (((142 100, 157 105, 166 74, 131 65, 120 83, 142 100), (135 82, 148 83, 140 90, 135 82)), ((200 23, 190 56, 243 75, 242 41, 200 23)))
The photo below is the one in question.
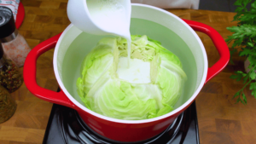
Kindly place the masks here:
POLYGON ((127 40, 131 58, 130 0, 69 0, 68 19, 80 30, 95 35, 114 35, 127 40))

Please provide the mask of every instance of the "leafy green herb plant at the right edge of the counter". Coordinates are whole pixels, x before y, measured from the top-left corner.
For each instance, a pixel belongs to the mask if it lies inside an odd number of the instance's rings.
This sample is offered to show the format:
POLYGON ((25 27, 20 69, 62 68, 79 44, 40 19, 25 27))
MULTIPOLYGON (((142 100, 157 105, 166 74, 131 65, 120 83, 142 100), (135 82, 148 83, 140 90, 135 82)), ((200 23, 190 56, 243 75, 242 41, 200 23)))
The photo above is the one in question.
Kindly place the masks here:
POLYGON ((244 89, 249 85, 252 95, 256 98, 256 1, 252 0, 237 0, 234 5, 236 15, 233 21, 237 21, 237 26, 227 27, 230 32, 234 32, 232 36, 226 39, 227 43, 234 42, 230 48, 231 62, 232 55, 238 53, 239 56, 245 57, 247 72, 237 71, 230 78, 237 81, 243 81, 244 86, 236 92, 233 99, 243 104, 247 103, 247 97, 244 89), (247 9, 247 5, 251 6, 247 9))

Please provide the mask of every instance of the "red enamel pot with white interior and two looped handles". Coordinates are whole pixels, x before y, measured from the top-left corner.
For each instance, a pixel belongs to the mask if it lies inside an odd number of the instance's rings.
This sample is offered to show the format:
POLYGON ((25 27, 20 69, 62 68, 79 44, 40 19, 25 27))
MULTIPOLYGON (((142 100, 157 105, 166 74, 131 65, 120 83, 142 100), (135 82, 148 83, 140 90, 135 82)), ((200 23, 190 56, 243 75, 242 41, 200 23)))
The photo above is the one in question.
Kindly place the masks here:
POLYGON ((143 4, 132 4, 131 34, 147 35, 160 41, 183 63, 183 70, 188 80, 184 84, 183 95, 172 112, 158 118, 120 120, 102 116, 84 107, 76 92, 76 80, 79 78, 84 56, 103 36, 82 32, 72 24, 61 34, 38 44, 27 55, 24 66, 24 81, 27 89, 44 101, 77 110, 90 129, 111 140, 144 141, 159 135, 195 101, 202 86, 224 69, 230 60, 230 52, 224 39, 212 27, 191 20, 181 20, 166 10, 143 4), (212 67, 208 67, 205 48, 194 30, 206 33, 218 49, 220 59, 212 67), (55 77, 61 92, 44 89, 36 82, 38 56, 53 48, 55 48, 55 77))

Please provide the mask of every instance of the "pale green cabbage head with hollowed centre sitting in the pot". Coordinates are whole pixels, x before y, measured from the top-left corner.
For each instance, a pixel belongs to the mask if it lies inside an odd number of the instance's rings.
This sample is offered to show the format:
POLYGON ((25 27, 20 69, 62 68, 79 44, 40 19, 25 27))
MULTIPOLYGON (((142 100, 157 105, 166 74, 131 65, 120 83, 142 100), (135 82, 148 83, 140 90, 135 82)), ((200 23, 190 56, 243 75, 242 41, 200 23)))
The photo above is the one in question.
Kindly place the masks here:
POLYGON ((119 71, 121 66, 128 66, 128 59, 123 62, 124 58, 127 59, 127 41, 122 37, 104 37, 86 55, 77 80, 85 107, 126 120, 155 118, 172 112, 187 78, 178 57, 158 41, 131 35, 131 60, 137 61, 131 62, 130 67, 138 68, 137 73, 127 74, 127 71, 126 79, 120 78, 125 71, 119 71), (134 78, 132 74, 141 75, 134 78), (143 77, 146 80, 142 83, 139 78, 143 77))

